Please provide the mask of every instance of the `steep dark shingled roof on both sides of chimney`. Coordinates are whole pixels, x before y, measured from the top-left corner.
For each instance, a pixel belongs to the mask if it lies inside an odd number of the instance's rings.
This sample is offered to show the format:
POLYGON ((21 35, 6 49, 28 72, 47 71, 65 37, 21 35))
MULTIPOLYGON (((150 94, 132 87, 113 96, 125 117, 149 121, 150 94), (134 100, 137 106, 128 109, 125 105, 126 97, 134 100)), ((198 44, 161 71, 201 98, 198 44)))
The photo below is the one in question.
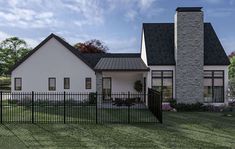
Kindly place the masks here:
MULTIPOLYGON (((175 65, 174 23, 144 23, 148 65, 175 65)), ((229 65, 212 25, 204 23, 204 65, 229 65)))

